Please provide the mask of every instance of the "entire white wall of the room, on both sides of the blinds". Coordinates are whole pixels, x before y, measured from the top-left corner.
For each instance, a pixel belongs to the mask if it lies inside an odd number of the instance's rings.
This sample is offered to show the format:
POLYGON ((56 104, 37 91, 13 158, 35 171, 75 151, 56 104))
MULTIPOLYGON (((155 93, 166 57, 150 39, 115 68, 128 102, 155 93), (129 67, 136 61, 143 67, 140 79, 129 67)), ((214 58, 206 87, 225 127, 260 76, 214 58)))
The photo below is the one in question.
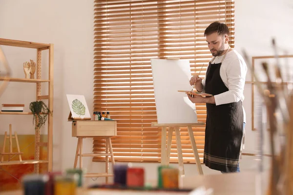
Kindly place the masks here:
MULTIPOLYGON (((43 43, 54 43, 54 170, 72 168, 77 139, 71 137, 71 123, 67 122, 68 103, 66 94, 83 94, 90 112, 93 106, 93 0, 1 0, 0 38, 19 39, 43 43)), ((245 48, 250 56, 272 55, 270 41, 275 37, 277 44, 292 50, 293 3, 291 0, 236 0, 235 2, 235 49, 245 48), (283 27, 281 27, 281 25, 283 27)), ((14 76, 22 77, 22 63, 35 59, 30 49, 3 47, 9 63, 14 67, 14 76)), ((47 54, 43 55, 43 64, 47 54)), ((46 70, 44 70, 46 72, 46 70)), ((248 74, 247 80, 250 80, 248 74)), ((33 100, 33 84, 10 83, 0 103, 25 101, 26 106, 33 100), (7 95, 9 94, 9 96, 7 95), (15 96, 13 96, 15 95, 15 96), (11 98, 13 97, 13 98, 11 98), (8 102, 11 100, 11 102, 8 102)), ((246 149, 255 153, 257 132, 251 131, 251 85, 245 86, 244 107, 247 114, 246 149)), ((28 108, 27 108, 28 109, 28 108)), ((21 134, 33 134, 32 116, 17 116, 19 123, 13 123, 21 134), (25 118, 25 119, 23 119, 25 118), (26 128, 30 127, 30 129, 26 128)), ((0 134, 6 130, 11 116, 0 116, 0 134)), ((92 140, 84 141, 84 150, 91 152, 92 140)), ((268 148, 266 146, 266 148, 268 148)), ((241 169, 255 170, 256 157, 244 156, 241 169)), ((268 159, 265 166, 268 168, 268 159)), ((146 178, 156 178, 156 163, 134 163, 147 169, 146 178)), ((84 167, 91 172, 104 170, 104 163, 84 160, 84 167)), ((219 174, 203 166, 205 174, 219 174)), ((195 165, 185 165, 186 175, 197 173, 195 165)), ((91 179, 87 180, 88 182, 91 179)), ((97 181, 104 181, 98 179, 97 181)), ((91 181, 93 182, 93 181, 91 181)))

